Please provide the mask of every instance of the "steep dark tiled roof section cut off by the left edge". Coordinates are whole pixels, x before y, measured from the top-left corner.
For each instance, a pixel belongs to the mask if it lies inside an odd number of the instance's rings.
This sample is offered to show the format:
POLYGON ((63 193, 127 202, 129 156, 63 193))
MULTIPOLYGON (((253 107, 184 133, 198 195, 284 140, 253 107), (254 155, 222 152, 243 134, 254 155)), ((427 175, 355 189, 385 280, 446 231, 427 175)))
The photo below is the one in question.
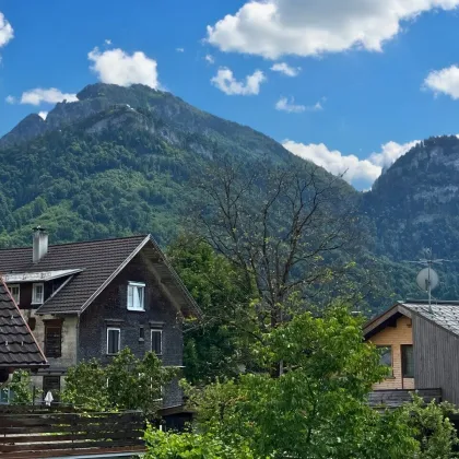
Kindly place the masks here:
POLYGON ((0 279, 0 368, 39 368, 48 363, 0 279))

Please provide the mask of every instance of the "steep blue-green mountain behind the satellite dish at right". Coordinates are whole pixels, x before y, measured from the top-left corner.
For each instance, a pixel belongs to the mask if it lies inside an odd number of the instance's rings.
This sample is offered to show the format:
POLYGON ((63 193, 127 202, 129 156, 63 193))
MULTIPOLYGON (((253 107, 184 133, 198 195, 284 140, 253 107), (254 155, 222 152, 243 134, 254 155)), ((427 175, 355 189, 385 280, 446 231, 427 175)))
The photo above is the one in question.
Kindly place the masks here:
POLYGON ((375 252, 407 266, 432 248, 434 257, 451 260, 436 268, 443 282, 435 295, 458 299, 459 139, 419 143, 376 180, 363 201, 375 227, 375 252))

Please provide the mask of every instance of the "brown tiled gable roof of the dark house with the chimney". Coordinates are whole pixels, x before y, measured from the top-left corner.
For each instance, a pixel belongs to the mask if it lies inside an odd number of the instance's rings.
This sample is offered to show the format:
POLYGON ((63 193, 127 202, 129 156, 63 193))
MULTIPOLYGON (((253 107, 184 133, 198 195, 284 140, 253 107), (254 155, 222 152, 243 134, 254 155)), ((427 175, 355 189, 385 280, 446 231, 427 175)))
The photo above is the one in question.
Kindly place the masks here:
POLYGON ((158 263, 169 273, 176 287, 180 307, 186 313, 200 315, 200 310, 164 254, 151 235, 84 243, 51 245, 37 263, 32 262, 32 247, 0 250, 0 271, 38 272, 56 270, 81 270, 70 275, 38 309, 37 314, 81 314, 90 306, 126 264, 150 245, 158 263))

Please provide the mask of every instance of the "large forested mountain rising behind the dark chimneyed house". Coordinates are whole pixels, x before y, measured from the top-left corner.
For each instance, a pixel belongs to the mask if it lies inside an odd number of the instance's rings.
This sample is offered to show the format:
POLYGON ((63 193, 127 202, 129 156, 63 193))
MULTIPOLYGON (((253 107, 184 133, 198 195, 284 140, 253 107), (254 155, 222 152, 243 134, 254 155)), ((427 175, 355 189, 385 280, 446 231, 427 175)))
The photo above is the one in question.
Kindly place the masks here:
MULTIPOLYGON (((86 86, 46 120, 30 115, 0 139, 0 245, 153 233, 167 244, 193 190, 190 177, 222 153, 303 161, 248 127, 144 85, 86 86)), ((321 169, 322 175, 327 175, 321 169)), ((348 187, 353 192, 351 187, 348 187)))

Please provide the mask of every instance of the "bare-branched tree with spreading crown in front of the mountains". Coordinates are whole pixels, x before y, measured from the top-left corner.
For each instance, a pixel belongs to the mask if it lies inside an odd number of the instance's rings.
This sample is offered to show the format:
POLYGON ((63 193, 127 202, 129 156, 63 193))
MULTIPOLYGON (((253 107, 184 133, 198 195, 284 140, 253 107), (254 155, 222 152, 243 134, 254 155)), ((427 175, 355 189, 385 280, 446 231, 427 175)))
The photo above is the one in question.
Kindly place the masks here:
POLYGON ((198 187, 198 229, 254 283, 260 326, 276 327, 293 294, 305 297, 345 270, 358 225, 341 177, 299 161, 260 161, 247 170, 226 156, 198 187))

